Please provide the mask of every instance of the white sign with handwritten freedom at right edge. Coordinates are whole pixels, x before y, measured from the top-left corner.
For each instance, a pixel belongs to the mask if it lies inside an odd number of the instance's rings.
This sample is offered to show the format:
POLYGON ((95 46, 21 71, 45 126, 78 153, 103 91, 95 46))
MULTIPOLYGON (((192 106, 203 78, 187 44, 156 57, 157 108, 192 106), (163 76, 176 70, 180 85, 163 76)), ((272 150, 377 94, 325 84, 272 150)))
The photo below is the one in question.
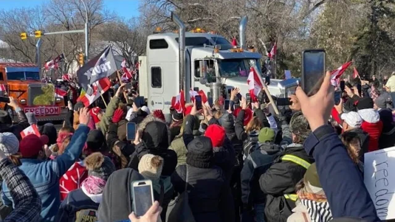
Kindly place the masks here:
POLYGON ((395 147, 365 153, 364 182, 381 220, 395 218, 395 147))

